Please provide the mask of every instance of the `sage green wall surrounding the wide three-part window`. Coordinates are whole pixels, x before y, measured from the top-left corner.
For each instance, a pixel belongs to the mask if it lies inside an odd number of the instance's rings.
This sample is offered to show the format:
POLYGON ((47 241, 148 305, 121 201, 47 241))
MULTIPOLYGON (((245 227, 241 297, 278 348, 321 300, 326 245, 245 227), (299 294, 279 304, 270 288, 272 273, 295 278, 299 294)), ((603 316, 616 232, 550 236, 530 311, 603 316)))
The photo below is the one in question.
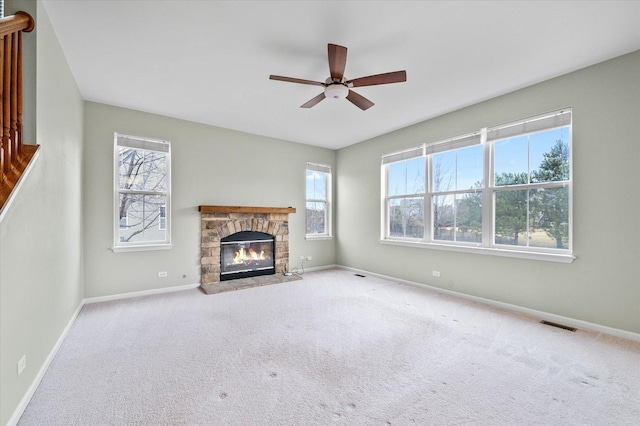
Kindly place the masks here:
POLYGON ((338 263, 640 333, 639 76, 635 52, 339 150, 338 263), (572 264, 379 243, 381 154, 566 106, 572 264))

